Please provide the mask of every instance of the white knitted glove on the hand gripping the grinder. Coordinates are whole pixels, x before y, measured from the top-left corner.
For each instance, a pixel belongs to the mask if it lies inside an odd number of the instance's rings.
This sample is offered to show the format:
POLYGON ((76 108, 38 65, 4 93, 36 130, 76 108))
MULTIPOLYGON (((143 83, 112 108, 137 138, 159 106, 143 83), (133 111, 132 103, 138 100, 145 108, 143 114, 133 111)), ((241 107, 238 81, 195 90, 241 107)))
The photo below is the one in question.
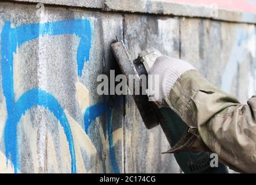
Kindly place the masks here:
POLYGON ((195 69, 191 64, 178 58, 172 58, 167 56, 161 56, 156 58, 153 66, 149 69, 149 76, 159 75, 159 91, 151 91, 153 86, 156 86, 158 82, 154 81, 154 77, 148 77, 148 93, 154 95, 151 101, 162 101, 165 99, 176 80, 182 75, 182 73, 195 69))

